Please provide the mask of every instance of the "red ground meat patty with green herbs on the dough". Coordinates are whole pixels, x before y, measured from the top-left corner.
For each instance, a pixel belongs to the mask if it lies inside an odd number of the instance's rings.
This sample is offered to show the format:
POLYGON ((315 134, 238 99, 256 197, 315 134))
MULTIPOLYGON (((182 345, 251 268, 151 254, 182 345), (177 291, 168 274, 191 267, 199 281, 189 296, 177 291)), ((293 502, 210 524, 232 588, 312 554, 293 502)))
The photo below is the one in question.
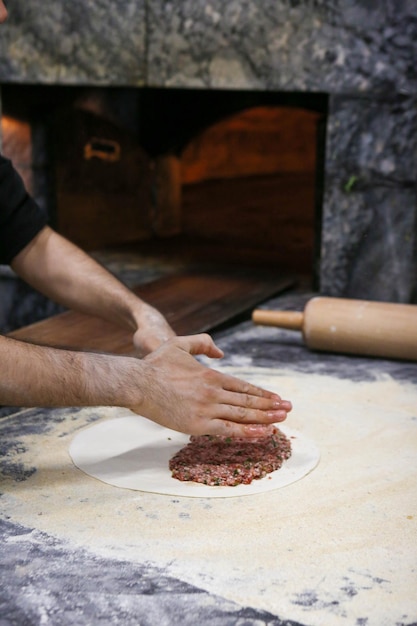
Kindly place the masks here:
POLYGON ((170 460, 173 478, 204 485, 248 485, 279 469, 291 456, 291 442, 278 428, 267 437, 201 435, 170 460))

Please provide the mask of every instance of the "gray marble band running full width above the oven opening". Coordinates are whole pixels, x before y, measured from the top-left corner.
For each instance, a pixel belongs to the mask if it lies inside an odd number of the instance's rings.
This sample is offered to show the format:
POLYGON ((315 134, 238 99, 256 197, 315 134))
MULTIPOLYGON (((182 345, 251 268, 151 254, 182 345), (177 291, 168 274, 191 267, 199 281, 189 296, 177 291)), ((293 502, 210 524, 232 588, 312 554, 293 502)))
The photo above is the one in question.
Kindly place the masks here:
POLYGON ((412 0, 14 0, 0 79, 417 93, 412 0))

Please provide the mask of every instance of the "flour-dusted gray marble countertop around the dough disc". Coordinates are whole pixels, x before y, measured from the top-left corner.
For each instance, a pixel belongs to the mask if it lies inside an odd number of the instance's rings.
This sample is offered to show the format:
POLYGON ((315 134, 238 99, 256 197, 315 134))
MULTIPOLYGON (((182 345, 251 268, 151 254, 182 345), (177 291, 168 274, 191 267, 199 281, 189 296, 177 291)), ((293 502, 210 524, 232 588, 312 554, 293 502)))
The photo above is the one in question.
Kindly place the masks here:
MULTIPOLYGON (((266 303, 301 310, 309 293, 266 303)), ((162 496, 75 468, 75 433, 114 407, 0 415, 0 623, 417 623, 417 364, 308 351, 243 320, 227 371, 279 390, 318 467, 256 496, 162 496)))

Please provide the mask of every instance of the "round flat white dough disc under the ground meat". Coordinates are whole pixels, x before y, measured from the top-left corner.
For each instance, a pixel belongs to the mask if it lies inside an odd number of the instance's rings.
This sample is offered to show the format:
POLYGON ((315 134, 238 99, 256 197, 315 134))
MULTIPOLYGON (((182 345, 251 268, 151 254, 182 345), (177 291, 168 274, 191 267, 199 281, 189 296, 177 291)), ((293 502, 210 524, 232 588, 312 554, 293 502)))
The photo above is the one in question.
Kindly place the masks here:
POLYGON ((319 451, 312 441, 297 431, 277 426, 291 438, 291 457, 265 478, 235 487, 212 487, 172 478, 169 460, 188 443, 189 436, 137 415, 84 429, 73 439, 69 453, 83 472, 115 487, 195 498, 246 496, 289 485, 306 476, 319 461, 319 451))

